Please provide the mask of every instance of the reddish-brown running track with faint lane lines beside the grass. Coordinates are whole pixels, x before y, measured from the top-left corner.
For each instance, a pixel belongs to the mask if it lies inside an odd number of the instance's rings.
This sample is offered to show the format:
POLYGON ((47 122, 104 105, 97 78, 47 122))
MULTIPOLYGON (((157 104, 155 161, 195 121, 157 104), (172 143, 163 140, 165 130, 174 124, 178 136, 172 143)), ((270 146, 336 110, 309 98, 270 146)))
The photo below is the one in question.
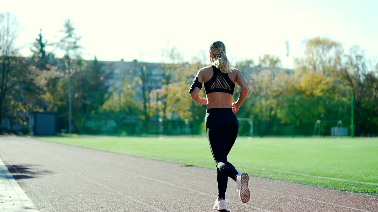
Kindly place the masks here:
MULTIPOLYGON (((25 137, 0 137, 0 157, 39 212, 212 212, 217 198, 211 169, 25 137)), ((378 212, 368 195, 253 177, 249 187, 243 204, 229 180, 228 211, 378 212)))

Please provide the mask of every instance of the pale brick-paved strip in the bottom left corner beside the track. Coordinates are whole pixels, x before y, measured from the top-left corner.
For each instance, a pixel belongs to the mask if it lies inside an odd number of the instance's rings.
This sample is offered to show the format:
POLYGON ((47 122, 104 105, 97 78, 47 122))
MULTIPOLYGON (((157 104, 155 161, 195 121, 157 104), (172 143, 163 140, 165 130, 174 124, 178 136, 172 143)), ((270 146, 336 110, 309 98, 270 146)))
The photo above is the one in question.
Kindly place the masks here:
POLYGON ((22 190, 20 185, 14 180, 0 158, 0 210, 14 212, 37 212, 36 207, 22 190))

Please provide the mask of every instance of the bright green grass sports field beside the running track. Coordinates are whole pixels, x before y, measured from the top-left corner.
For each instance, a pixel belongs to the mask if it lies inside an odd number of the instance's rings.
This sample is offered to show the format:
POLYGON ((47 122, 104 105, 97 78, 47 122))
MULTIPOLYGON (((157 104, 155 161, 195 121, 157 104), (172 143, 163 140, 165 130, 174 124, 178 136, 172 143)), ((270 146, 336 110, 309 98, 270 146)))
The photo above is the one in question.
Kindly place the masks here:
MULTIPOLYGON (((215 169, 204 137, 39 139, 215 169)), ((256 177, 378 195, 376 138, 238 138, 228 161, 256 177)))

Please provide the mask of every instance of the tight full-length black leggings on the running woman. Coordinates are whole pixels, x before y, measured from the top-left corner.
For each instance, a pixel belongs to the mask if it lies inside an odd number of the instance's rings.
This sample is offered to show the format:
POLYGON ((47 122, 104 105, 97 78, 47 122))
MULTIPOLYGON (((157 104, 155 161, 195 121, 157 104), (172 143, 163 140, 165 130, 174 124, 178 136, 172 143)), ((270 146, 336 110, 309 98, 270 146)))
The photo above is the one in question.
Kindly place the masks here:
POLYGON ((234 145, 239 131, 239 124, 231 108, 208 109, 205 124, 211 153, 217 166, 218 198, 225 199, 227 177, 235 180, 235 176, 239 173, 227 161, 227 155, 234 145))

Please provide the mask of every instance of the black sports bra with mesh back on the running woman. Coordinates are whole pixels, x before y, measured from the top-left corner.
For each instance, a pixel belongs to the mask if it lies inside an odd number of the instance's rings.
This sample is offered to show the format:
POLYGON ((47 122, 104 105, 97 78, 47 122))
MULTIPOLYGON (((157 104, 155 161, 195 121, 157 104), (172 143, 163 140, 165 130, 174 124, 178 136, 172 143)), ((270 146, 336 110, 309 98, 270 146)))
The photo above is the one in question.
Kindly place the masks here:
POLYGON ((231 81, 228 74, 221 72, 215 66, 211 67, 213 68, 214 74, 209 81, 203 84, 206 94, 212 92, 224 92, 234 95, 235 83, 231 81))

